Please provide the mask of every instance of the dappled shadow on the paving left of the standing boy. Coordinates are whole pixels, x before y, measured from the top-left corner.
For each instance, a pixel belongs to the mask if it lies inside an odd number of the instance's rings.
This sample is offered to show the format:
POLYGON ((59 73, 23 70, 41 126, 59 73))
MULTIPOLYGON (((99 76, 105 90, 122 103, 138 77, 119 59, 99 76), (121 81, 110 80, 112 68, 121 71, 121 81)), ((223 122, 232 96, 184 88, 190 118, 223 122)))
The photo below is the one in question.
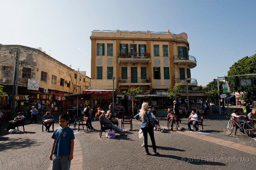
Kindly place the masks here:
POLYGON ((17 138, 8 140, 8 142, 4 143, 4 147, 0 148, 0 151, 8 150, 8 149, 20 149, 30 147, 32 144, 35 146, 36 140, 35 139, 24 139, 24 138, 17 138))

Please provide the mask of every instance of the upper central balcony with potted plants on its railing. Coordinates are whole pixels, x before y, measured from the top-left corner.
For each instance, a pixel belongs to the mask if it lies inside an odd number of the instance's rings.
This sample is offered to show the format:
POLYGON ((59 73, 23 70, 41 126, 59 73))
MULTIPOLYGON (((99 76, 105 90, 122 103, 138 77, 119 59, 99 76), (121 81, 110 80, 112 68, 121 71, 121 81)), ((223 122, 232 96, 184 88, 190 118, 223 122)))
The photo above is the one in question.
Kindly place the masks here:
POLYGON ((118 63, 149 63, 150 53, 119 53, 118 63))

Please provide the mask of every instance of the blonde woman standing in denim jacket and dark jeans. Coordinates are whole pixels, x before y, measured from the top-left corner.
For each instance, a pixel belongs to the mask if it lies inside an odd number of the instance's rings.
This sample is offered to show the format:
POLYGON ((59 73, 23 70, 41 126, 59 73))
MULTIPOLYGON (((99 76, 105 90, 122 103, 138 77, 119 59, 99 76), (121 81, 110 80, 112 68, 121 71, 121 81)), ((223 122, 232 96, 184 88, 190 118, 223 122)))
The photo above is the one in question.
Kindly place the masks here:
POLYGON ((151 122, 152 125, 155 126, 155 130, 157 130, 155 121, 153 120, 150 111, 148 111, 148 103, 146 103, 146 102, 142 103, 140 113, 135 115, 134 118, 141 122, 141 129, 142 129, 142 133, 143 133, 143 136, 144 136, 144 146, 145 146, 146 155, 150 154, 148 152, 148 134, 149 134, 151 142, 152 142, 152 148, 154 150, 154 155, 159 154, 156 151, 156 142, 155 142, 155 138, 154 138, 154 129, 147 127, 147 120, 149 119, 148 123, 151 122))

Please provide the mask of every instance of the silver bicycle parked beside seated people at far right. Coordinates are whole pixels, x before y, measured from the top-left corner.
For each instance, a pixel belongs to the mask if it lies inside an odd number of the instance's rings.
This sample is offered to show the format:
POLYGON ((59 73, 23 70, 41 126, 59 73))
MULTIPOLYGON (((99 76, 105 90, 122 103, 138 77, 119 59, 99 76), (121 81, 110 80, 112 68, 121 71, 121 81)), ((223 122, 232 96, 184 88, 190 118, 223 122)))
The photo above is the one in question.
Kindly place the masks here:
POLYGON ((256 137, 256 128, 254 127, 254 122, 246 122, 242 120, 240 120, 240 122, 236 122, 233 116, 229 115, 228 113, 226 113, 226 117, 229 119, 229 121, 224 127, 225 135, 229 136, 233 132, 234 126, 236 126, 236 130, 239 129, 242 133, 246 132, 248 136, 256 137))

